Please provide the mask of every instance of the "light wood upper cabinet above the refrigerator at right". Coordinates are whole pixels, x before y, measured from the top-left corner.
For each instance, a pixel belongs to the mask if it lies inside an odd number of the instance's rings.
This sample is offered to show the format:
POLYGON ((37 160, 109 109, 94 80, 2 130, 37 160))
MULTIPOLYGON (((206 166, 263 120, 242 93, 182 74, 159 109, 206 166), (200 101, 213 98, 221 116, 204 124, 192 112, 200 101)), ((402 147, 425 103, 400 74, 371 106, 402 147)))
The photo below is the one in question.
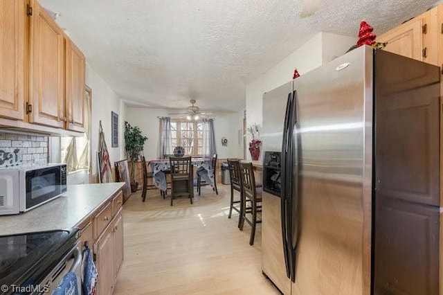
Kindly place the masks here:
POLYGON ((386 51, 437 64, 436 27, 437 8, 434 8, 380 35, 377 42, 388 42, 386 51))

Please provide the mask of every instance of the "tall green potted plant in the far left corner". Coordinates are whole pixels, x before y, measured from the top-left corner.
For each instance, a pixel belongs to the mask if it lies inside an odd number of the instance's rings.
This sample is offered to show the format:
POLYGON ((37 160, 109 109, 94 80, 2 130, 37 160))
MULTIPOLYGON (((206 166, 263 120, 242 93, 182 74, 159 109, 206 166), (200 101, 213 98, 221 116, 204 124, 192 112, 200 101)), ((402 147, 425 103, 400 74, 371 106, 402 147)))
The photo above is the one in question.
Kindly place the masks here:
POLYGON ((147 137, 143 136, 141 130, 137 126, 131 126, 125 121, 125 150, 128 160, 131 162, 131 191, 135 193, 138 188, 138 182, 136 181, 136 162, 138 155, 143 150, 143 146, 147 141, 147 137))

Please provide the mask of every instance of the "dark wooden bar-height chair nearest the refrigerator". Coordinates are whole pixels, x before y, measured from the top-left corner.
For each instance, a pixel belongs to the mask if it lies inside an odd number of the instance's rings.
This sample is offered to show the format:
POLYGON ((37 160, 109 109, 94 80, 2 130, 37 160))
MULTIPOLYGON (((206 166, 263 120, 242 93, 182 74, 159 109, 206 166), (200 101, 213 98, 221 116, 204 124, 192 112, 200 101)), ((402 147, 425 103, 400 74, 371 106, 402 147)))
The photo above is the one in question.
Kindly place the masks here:
POLYGON ((242 213, 240 216, 240 231, 243 230, 244 222, 248 222, 251 225, 251 238, 249 244, 254 244, 255 227, 258 223, 262 223, 262 188, 255 186, 255 177, 252 163, 239 163, 240 181, 242 186, 242 213), (247 206, 246 201, 251 201, 251 206, 247 206), (257 219, 257 215, 260 213, 260 220, 257 219), (251 214, 251 217, 248 217, 251 214))

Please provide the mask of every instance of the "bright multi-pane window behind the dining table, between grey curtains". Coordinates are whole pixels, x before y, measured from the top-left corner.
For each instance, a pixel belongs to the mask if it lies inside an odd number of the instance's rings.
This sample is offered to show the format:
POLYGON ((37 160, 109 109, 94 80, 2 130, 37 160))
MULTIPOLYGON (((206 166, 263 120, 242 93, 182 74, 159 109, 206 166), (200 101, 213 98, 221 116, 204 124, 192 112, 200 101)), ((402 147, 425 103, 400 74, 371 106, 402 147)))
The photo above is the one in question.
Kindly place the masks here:
POLYGON ((171 119, 171 145, 182 146, 185 154, 201 156, 203 154, 204 123, 199 121, 188 121, 171 119))

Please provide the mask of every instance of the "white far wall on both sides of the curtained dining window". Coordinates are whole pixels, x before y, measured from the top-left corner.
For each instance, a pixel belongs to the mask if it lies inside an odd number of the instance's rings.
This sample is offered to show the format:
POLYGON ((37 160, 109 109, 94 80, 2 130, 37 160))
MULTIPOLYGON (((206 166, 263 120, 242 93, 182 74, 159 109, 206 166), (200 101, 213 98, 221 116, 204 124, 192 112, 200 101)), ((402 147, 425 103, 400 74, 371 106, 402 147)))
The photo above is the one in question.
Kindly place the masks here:
MULTIPOLYGON (((144 154, 146 159, 159 157, 159 117, 168 116, 170 109, 150 109, 147 107, 127 107, 126 118, 129 124, 138 126, 146 141, 144 154)), ((219 159, 237 157, 238 113, 219 112, 215 114, 214 133, 215 144, 219 159), (221 145, 221 138, 228 139, 228 146, 221 145)))

